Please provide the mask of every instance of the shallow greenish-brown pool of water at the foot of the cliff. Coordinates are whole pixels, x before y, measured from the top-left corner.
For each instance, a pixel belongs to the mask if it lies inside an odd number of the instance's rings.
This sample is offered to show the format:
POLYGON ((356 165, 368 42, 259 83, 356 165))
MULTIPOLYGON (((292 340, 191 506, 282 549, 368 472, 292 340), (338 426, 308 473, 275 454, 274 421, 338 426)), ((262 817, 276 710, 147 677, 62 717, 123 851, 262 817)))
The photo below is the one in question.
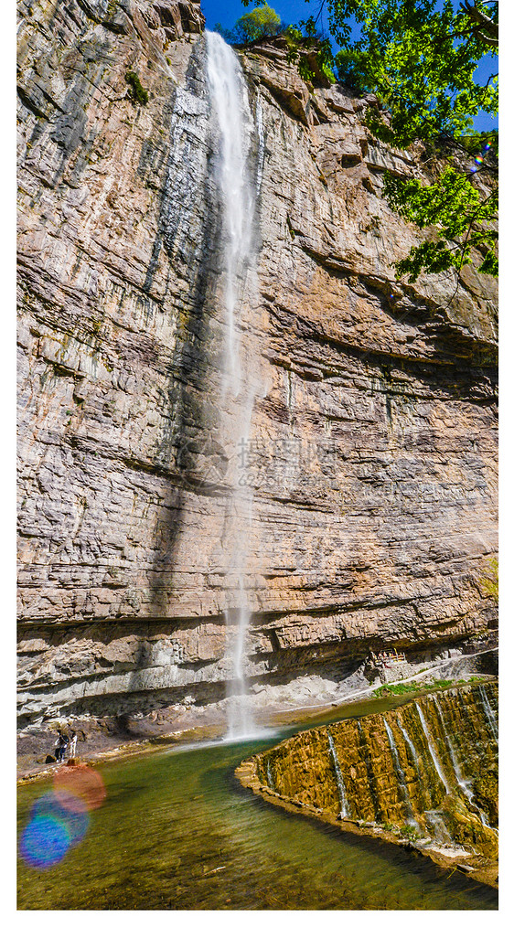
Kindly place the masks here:
MULTIPOLYGON (((352 705, 339 717, 405 701, 352 705)), ((19 908, 497 908, 497 893, 487 886, 402 847, 290 815, 240 787, 238 764, 294 730, 98 765, 107 801, 61 863, 36 870, 19 862, 19 908)), ((19 790, 20 828, 48 788, 46 781, 19 790)))

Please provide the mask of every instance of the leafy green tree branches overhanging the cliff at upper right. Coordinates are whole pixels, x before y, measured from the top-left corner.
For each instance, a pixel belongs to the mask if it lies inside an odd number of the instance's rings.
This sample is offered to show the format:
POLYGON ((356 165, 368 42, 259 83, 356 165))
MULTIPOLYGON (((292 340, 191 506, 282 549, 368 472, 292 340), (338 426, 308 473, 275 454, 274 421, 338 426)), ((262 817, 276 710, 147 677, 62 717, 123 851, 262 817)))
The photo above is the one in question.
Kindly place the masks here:
MULTIPOLYGON (((243 0, 250 4, 251 0, 243 0)), ((357 93, 373 93, 371 133, 392 146, 425 142, 430 185, 391 175, 392 208, 435 240, 413 248, 397 265, 414 281, 422 271, 457 273, 482 252, 479 270, 497 273, 497 132, 478 133, 480 112, 493 122, 498 109, 498 3, 492 0, 315 0, 315 15, 289 28, 290 57, 318 36, 328 15, 328 38, 318 41, 319 63, 336 70, 357 93), (356 27, 356 28, 355 28, 356 27), (356 37, 355 37, 356 36, 356 37), (333 44, 340 46, 334 52, 333 44), (480 79, 478 66, 488 63, 480 79), (432 156, 437 154, 437 158, 432 156)), ((327 71, 326 71, 327 72, 327 71)))

